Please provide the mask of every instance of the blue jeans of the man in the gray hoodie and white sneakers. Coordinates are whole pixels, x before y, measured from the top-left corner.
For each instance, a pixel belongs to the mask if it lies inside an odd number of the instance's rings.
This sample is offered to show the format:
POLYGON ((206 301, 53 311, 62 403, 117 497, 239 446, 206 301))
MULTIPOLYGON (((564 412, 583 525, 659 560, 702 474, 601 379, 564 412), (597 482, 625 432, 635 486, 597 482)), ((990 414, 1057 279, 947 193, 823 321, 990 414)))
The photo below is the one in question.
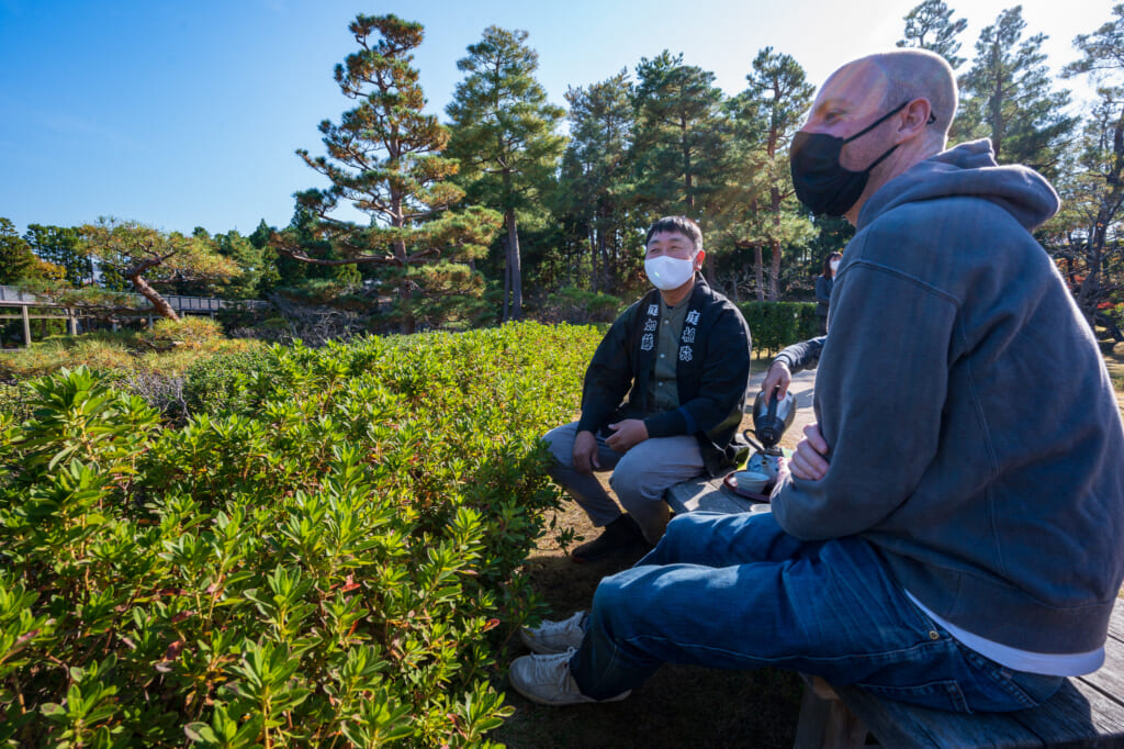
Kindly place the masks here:
POLYGON ((578 686, 604 700, 661 664, 772 666, 959 712, 1033 707, 1061 677, 1012 671, 954 640, 858 536, 800 541, 771 513, 690 513, 597 587, 578 686))

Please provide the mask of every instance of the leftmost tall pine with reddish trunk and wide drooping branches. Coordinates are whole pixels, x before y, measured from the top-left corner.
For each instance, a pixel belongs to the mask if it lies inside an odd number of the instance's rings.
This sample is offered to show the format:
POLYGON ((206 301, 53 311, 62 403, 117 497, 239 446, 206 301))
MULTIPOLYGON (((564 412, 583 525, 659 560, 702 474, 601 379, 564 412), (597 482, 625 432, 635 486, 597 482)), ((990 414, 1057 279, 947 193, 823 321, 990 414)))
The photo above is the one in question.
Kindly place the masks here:
MULTIPOLYGON (((450 178, 456 162, 442 155, 447 129, 423 114, 425 96, 411 51, 422 44, 420 24, 397 16, 360 15, 348 26, 360 49, 336 65, 339 90, 357 103, 338 125, 320 123, 327 156, 298 155, 332 187, 297 193, 300 209, 316 219, 316 240, 335 258, 315 258, 284 233, 279 252, 318 265, 371 264, 397 287, 404 333, 417 321, 441 324, 481 295, 479 274, 465 263, 487 252, 498 225, 495 211, 453 210, 464 196, 450 178), (360 226, 333 216, 341 200, 371 216, 360 226)), ((468 314, 465 312, 465 314, 468 314)))

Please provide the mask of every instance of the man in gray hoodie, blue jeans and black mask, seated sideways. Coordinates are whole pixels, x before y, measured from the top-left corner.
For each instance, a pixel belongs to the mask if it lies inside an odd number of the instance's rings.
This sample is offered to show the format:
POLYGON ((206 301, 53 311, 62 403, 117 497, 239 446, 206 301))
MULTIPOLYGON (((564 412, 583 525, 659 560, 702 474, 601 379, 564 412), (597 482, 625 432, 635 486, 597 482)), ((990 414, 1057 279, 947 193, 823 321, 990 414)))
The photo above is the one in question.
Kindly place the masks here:
POLYGON ((619 700, 662 662, 777 666, 953 711, 1097 669, 1124 578, 1124 428, 1030 232, 1058 209, 987 141, 945 151, 937 55, 844 65, 794 138, 797 195, 856 234, 771 514, 674 518, 592 611, 526 629, 531 700, 619 700))

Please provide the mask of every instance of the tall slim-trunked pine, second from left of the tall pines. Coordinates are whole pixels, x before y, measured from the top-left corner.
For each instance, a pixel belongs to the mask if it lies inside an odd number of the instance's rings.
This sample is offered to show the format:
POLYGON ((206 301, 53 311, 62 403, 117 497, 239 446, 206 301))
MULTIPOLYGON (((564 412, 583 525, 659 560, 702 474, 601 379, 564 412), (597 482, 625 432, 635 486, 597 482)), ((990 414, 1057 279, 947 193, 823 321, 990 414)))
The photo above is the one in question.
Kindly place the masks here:
POLYGON ((445 108, 452 118, 447 155, 461 163, 469 197, 500 210, 507 233, 504 319, 523 314, 523 269, 516 210, 558 168, 565 139, 555 129, 564 116, 535 80, 538 54, 527 33, 497 26, 469 45, 456 63, 466 73, 445 108))

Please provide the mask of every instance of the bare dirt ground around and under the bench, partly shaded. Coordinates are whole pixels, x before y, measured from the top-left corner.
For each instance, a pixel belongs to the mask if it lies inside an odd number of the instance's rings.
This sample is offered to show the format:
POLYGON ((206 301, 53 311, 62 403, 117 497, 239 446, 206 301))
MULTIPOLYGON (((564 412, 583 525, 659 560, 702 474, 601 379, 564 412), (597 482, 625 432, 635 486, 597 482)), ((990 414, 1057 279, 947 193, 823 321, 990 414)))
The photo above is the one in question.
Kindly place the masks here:
MULTIPOLYGON (((785 446, 795 446, 801 436, 799 427, 809 421, 810 382, 807 392, 794 389, 803 407, 798 423, 781 441, 785 446)), ((742 426, 752 426, 749 417, 742 426)), ((568 502, 556 520, 560 527, 572 527, 586 539, 598 533, 574 503, 568 502)), ((527 569, 559 619, 588 610, 598 581, 641 557, 636 553, 579 565, 559 549, 555 533, 549 531, 538 540, 527 569)), ((752 633, 746 632, 746 637, 752 633)), ((774 669, 723 671, 687 666, 664 666, 627 700, 604 705, 547 707, 507 688, 515 714, 489 736, 515 749, 791 747, 801 688, 795 674, 774 669)))

